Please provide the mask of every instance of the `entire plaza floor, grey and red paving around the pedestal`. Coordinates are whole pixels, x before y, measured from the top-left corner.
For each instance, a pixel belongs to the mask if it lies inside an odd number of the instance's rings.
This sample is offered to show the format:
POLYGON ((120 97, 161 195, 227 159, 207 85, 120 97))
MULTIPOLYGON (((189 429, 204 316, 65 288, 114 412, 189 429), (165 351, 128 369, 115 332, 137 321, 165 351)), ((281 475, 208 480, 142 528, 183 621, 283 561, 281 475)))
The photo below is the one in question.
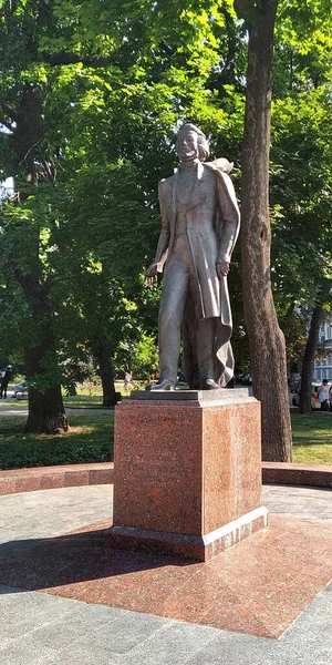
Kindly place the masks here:
POLYGON ((112 485, 0 498, 0 663, 332 664, 331 490, 207 563, 106 546, 112 485))

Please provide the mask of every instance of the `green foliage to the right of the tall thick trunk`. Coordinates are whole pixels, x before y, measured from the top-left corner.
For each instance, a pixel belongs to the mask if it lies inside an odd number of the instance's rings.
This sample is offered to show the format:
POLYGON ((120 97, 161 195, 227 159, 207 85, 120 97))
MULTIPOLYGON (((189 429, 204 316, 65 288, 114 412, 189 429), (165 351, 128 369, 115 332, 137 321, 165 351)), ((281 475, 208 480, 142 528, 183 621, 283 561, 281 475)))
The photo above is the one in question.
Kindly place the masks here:
MULTIPOLYGON (((332 28, 325 0, 279 3, 271 205, 276 297, 313 307, 332 275, 332 28)), ((288 305, 287 305, 288 303, 288 305)))

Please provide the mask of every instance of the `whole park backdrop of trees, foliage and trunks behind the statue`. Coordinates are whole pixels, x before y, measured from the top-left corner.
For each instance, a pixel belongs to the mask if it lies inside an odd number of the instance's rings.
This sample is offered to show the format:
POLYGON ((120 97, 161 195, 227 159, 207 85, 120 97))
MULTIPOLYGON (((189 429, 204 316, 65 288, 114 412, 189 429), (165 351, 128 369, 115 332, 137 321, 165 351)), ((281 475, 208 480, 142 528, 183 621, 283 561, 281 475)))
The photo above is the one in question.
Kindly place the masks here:
POLYGON ((54 463, 49 448, 62 461, 62 447, 77 461, 89 446, 94 459, 112 456, 111 413, 71 412, 75 386, 93 366, 110 409, 116 376, 156 375, 162 280, 147 287, 145 272, 160 232, 158 182, 174 173, 176 134, 190 122, 209 160, 234 163, 232 348, 261 402, 262 458, 291 461, 287 381, 300 374, 293 453, 317 460, 331 420, 311 415, 313 380, 332 378, 320 335, 332 330, 330 8, 120 4, 3 3, 0 370, 27 379, 29 410, 25 424, 1 420, 2 447, 12 436, 45 453, 46 441, 54 463))

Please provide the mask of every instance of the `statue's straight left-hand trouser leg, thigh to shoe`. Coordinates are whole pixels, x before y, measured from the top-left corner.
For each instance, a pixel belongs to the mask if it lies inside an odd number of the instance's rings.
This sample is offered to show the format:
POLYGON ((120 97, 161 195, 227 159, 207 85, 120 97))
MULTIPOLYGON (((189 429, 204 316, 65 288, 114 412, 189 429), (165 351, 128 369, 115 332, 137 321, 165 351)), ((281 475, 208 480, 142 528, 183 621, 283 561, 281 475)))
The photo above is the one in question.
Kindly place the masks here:
POLYGON ((186 263, 172 257, 165 270, 159 308, 159 383, 166 379, 175 385, 177 380, 180 327, 189 283, 186 263))

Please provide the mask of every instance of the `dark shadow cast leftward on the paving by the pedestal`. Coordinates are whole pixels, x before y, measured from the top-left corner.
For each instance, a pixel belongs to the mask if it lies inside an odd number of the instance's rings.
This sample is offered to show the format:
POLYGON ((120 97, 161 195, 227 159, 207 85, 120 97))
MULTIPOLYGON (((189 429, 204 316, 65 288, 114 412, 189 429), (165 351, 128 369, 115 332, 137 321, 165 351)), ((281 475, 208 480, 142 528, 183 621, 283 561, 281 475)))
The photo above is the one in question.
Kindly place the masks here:
POLYGON ((173 556, 112 550, 106 542, 106 533, 104 529, 2 543, 0 584, 18 587, 18 592, 38 591, 195 563, 173 556))

